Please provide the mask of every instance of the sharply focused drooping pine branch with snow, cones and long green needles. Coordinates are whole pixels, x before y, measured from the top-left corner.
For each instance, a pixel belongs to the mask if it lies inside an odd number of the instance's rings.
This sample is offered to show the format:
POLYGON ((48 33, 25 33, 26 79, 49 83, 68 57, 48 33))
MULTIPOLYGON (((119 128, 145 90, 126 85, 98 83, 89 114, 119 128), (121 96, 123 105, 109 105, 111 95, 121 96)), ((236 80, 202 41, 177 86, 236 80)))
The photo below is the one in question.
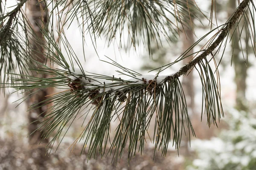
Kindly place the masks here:
MULTIPOLYGON (((84 141, 83 150, 86 146, 88 147, 88 159, 96 158, 97 153, 100 153, 101 156, 111 154, 117 162, 126 145, 128 145, 129 152, 128 160, 134 156, 136 150, 142 153, 145 137, 148 135, 148 127, 154 116, 153 142, 155 143, 155 150, 161 149, 165 155, 169 142, 172 142, 172 146, 177 149, 180 147, 181 137, 186 132, 185 128, 188 129, 189 133, 185 135, 189 137, 191 134, 195 135, 189 120, 186 99, 179 80, 180 76, 188 74, 194 67, 198 70, 203 86, 202 113, 207 113, 209 126, 212 123, 216 124, 221 115, 223 116, 219 94, 218 65, 214 57, 207 60, 207 56, 221 45, 231 28, 239 22, 239 18, 250 2, 252 1, 244 0, 239 5, 233 16, 218 32, 219 36, 212 38, 211 45, 201 55, 184 65, 176 73, 168 76, 158 76, 159 74, 143 76, 122 67, 113 60, 109 63, 121 70, 118 73, 129 76, 131 79, 124 80, 99 74, 85 74, 83 66, 67 39, 60 35, 60 41, 64 45, 69 61, 61 53, 52 34, 49 35, 49 32, 42 30, 49 44, 49 46, 44 47, 48 51, 43 52, 43 54, 63 69, 49 68, 35 61, 42 67, 30 70, 37 71, 38 74, 52 75, 52 78, 23 75, 26 79, 15 79, 15 81, 23 81, 23 83, 13 87, 25 91, 34 88, 39 88, 38 91, 40 91, 44 88, 68 87, 60 93, 50 95, 49 99, 30 107, 32 110, 53 102, 53 105, 48 108, 45 120, 41 121, 38 128, 38 130, 43 130, 43 139, 48 139, 54 131, 56 132, 48 145, 49 149, 65 131, 64 127, 67 126, 67 123, 73 122, 79 113, 87 108, 88 112, 93 111, 92 116, 74 145, 78 141, 84 141), (215 73, 209 66, 210 61, 214 61, 217 82, 215 73), (79 65, 81 74, 74 73, 73 62, 79 65), (118 122, 118 126, 114 138, 111 138, 110 124, 113 121, 118 122), (111 147, 109 151, 106 151, 108 142, 111 147)), ((181 58, 183 59, 183 57, 181 58)), ((34 91, 33 94, 36 92, 34 91)), ((88 115, 88 112, 84 114, 88 115)))

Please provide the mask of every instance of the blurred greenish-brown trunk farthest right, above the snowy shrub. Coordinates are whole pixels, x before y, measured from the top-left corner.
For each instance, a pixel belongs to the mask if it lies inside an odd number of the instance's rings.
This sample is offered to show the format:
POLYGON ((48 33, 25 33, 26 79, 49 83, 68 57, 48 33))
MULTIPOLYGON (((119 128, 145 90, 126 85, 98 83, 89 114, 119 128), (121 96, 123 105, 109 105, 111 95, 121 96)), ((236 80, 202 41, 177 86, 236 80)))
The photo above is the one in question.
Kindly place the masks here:
MULTIPOLYGON (((228 16, 231 16, 231 14, 233 14, 233 11, 236 10, 237 8, 236 2, 237 1, 229 0, 230 14, 228 16)), ((243 18, 241 20, 243 20, 243 18)), ((235 27, 233 27, 233 29, 231 30, 231 35, 233 34, 233 31, 235 31, 235 27)), ((246 43, 247 43, 247 40, 246 40, 246 43)), ((232 37, 231 45, 232 45, 232 48, 234 48, 232 65, 234 65, 234 68, 235 68, 236 108, 238 110, 246 111, 247 107, 245 105, 246 103, 245 91, 246 91, 247 66, 244 63, 243 57, 239 56, 242 54, 241 54, 241 48, 239 44, 238 30, 236 30, 236 33, 232 37)))

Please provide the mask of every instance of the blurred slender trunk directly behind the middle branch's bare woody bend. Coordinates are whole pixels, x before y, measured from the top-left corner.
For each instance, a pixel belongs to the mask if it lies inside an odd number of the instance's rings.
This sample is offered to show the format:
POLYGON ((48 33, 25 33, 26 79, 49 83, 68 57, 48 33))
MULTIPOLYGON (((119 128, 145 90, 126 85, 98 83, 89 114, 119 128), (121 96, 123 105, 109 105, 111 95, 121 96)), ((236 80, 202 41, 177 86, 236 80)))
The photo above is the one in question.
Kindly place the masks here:
MULTIPOLYGON (((193 18, 191 18, 191 23, 193 24, 193 18)), ((191 26, 192 27, 192 26, 191 26)), ((186 35, 183 34, 182 37, 182 42, 183 42, 183 47, 182 47, 182 51, 186 51, 187 49, 189 49, 189 47, 191 47, 194 43, 195 43, 195 39, 194 39, 194 32, 192 30, 192 28, 186 28, 185 29, 186 35)), ((193 53, 193 49, 191 49, 189 51, 188 54, 186 54, 187 56, 193 53)), ((185 59, 183 59, 183 65, 186 65, 194 56, 189 56, 186 57, 185 59)), ((182 79, 182 87, 183 87, 183 91, 184 94, 186 95, 186 102, 187 102, 187 107, 188 107, 188 113, 189 113, 189 118, 192 119, 192 115, 194 114, 194 105, 195 105, 195 91, 194 91, 194 77, 193 77, 193 70, 189 73, 189 75, 187 75, 186 77, 184 77, 184 79, 182 79)), ((186 138, 184 138, 184 142, 185 146, 185 154, 188 155, 189 154, 189 137, 188 137, 188 131, 186 131, 186 138)))

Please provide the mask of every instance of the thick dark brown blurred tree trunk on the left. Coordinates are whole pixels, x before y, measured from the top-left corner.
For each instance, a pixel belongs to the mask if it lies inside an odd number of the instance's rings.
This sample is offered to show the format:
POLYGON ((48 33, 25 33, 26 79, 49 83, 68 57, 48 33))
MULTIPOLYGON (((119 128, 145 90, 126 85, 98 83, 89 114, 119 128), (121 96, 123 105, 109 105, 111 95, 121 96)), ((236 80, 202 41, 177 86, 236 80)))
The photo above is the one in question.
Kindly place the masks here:
MULTIPOLYGON (((41 33, 41 29, 44 29, 44 26, 47 23, 48 14, 47 14, 46 3, 41 1, 42 0, 28 0, 26 3, 26 9, 27 9, 27 17, 30 21, 29 24, 32 26, 33 31, 38 37, 38 38, 32 37, 32 39, 30 40, 30 43, 32 45, 32 56, 34 56, 34 59, 36 61, 45 63, 46 57, 42 54, 44 51, 44 48, 41 46, 42 43, 45 43, 45 40, 44 40, 44 35, 41 33)), ((37 73, 33 72, 33 74, 37 74, 37 73)), ((38 74, 37 77, 45 78, 47 77, 47 75, 38 74)), ((37 90, 38 89, 34 89, 33 91, 30 91, 30 92, 34 92, 37 90)), ((34 95, 32 95, 29 99, 27 99, 27 104, 30 106, 33 104, 40 103, 46 99, 45 96, 47 95, 49 95, 48 89, 43 89, 41 91, 38 91, 34 95)), ((44 103, 41 103, 41 105, 43 106, 40 108, 34 109, 32 111, 29 111, 28 113, 28 119, 29 119, 28 131, 29 131, 29 134, 32 133, 32 135, 29 136, 29 144, 30 144, 30 147, 32 147, 31 154, 32 154, 32 157, 34 158, 35 164, 38 165, 40 169, 46 169, 45 161, 47 160, 48 156, 46 156, 45 147, 49 141, 48 139, 44 139, 42 137, 41 131, 37 130, 38 124, 40 123, 40 121, 36 121, 46 115, 47 106, 45 106, 44 103), (40 142, 41 144, 38 147, 38 144, 40 142)))

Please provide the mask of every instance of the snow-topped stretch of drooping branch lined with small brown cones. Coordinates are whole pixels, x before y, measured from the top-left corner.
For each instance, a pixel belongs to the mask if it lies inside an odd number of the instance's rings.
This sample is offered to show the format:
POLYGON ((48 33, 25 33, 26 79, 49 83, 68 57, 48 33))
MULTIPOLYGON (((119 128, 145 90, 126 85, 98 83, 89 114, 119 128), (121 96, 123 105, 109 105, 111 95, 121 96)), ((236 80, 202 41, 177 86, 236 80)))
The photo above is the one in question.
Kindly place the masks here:
POLYGON ((81 76, 77 78, 76 76, 72 76, 68 79, 68 86, 70 87, 70 91, 75 94, 81 90, 87 90, 87 93, 90 94, 89 99, 93 99, 92 104, 99 105, 102 100, 102 96, 99 94, 103 92, 109 93, 112 99, 113 96, 118 96, 119 102, 125 102, 125 99, 127 99, 126 94, 128 93, 126 89, 127 85, 143 85, 145 86, 146 92, 152 95, 154 89, 159 88, 166 77, 167 76, 144 75, 128 80, 115 79, 114 77, 112 80, 108 80, 81 76), (96 89, 93 87, 96 87, 96 89))

